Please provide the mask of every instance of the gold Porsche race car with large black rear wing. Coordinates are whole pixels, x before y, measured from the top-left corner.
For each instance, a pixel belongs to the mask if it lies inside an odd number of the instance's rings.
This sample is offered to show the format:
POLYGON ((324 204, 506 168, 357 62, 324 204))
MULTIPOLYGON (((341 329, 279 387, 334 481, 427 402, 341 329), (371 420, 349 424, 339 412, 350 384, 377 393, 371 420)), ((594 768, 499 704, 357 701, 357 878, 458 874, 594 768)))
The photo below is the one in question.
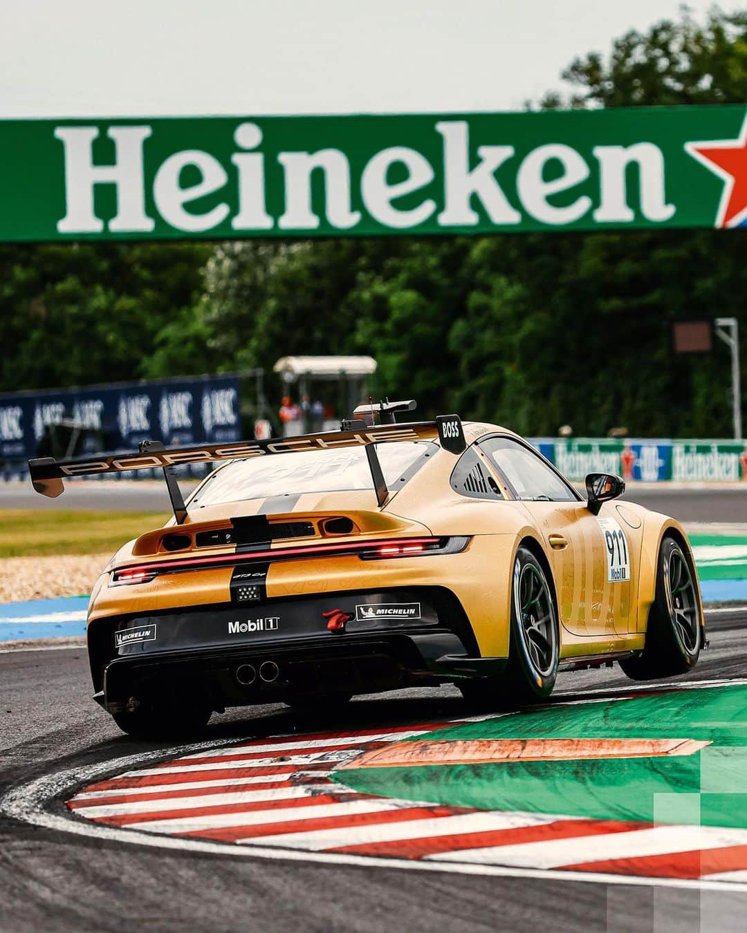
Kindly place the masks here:
POLYGON ((45 495, 163 468, 174 517, 115 554, 89 607, 95 699, 122 730, 444 682, 517 705, 546 699, 558 670, 696 664, 703 611, 677 522, 615 501, 616 476, 590 474, 582 498, 505 428, 397 422, 415 407, 361 406, 339 432, 30 462, 45 495), (175 467, 219 460, 185 503, 175 467))

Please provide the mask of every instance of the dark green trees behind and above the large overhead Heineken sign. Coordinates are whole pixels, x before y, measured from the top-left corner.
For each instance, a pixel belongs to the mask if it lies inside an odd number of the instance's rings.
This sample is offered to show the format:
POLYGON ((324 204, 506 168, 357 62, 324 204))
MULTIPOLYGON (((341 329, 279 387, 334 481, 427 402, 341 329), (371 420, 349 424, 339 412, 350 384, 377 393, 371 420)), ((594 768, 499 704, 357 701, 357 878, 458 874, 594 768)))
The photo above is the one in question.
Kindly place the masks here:
MULTIPOLYGON (((628 32, 544 107, 747 100, 747 12, 628 32)), ((743 231, 79 244, 0 249, 0 388, 367 353, 377 393, 528 434, 719 436, 728 356, 675 356, 671 321, 734 315, 743 231)), ((744 357, 744 355, 743 355, 744 357)), ((271 385, 277 399, 280 386, 271 385)))

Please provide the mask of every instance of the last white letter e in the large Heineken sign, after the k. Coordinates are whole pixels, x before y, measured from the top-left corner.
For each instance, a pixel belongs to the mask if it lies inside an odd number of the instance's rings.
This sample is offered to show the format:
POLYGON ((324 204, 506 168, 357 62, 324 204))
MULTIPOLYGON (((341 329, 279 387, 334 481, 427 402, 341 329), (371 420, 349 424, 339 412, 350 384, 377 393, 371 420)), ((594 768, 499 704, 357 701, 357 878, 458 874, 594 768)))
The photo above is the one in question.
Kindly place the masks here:
POLYGON ((565 207, 557 207, 547 199, 552 194, 566 191, 585 181, 589 176, 589 167, 585 160, 571 149, 571 146, 551 144, 532 149, 521 163, 516 185, 524 209, 535 220, 545 224, 570 224, 583 217, 591 207, 591 198, 583 195, 565 207), (544 167, 547 162, 556 160, 560 163, 562 174, 550 181, 544 179, 544 167))

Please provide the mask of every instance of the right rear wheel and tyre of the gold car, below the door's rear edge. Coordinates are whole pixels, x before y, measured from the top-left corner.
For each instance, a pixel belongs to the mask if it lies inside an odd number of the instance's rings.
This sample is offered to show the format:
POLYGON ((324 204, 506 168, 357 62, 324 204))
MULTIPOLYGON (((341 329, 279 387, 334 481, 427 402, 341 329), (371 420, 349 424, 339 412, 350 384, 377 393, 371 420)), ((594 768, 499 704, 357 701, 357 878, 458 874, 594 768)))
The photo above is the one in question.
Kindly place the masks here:
POLYGON ((498 677, 458 684, 464 699, 493 709, 546 700, 557 678, 558 633, 553 588, 542 564, 521 547, 514 561, 508 662, 498 677))

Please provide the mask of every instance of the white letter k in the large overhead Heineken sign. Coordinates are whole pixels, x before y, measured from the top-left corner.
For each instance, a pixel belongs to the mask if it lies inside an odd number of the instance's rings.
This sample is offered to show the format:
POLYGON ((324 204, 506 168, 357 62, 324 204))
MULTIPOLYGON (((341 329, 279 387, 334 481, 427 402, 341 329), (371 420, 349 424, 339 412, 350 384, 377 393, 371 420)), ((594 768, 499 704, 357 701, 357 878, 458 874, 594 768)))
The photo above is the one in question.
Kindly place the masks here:
POLYGON ((477 197, 494 224, 518 224, 521 215, 506 199, 496 180, 496 170, 514 155, 514 146, 478 146, 480 162, 470 169, 470 138, 466 120, 436 123, 444 137, 444 210, 442 227, 473 227, 480 220, 471 207, 477 197))

